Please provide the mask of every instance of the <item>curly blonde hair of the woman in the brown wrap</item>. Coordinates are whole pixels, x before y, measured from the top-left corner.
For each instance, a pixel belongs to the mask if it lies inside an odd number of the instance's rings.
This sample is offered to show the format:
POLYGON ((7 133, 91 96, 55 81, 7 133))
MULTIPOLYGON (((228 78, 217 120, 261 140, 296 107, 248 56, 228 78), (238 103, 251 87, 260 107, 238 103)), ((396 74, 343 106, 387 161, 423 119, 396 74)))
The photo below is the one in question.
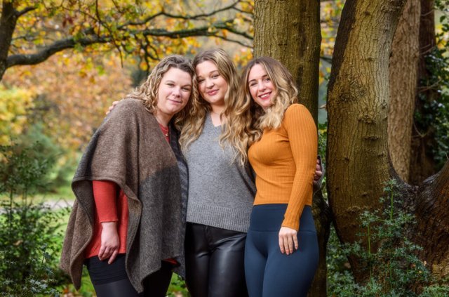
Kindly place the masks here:
POLYGON ((196 74, 194 67, 192 66, 192 60, 189 58, 185 58, 182 55, 168 55, 166 58, 163 58, 161 62, 154 67, 147 80, 138 86, 133 93, 126 95, 126 99, 132 98, 141 100, 143 105, 145 105, 145 108, 149 112, 154 113, 158 110, 157 98, 159 84, 161 84, 163 75, 171 68, 177 68, 187 72, 192 77, 192 92, 190 93, 189 101, 187 102, 187 105, 173 117, 173 124, 175 125, 175 128, 180 131, 183 122, 187 118, 189 111, 192 109, 192 102, 198 97, 196 74))

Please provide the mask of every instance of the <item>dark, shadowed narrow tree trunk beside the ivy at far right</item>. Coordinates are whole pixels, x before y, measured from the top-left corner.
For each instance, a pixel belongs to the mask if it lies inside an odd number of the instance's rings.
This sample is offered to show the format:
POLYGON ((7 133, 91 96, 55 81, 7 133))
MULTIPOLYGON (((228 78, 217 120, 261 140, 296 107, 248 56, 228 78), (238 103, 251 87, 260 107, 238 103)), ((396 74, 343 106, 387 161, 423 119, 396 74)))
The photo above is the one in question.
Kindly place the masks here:
MULTIPOLYGON (((434 0, 421 0, 420 19, 420 60, 418 67, 419 87, 415 98, 415 112, 425 114, 424 103, 431 103, 438 98, 435 90, 427 87, 427 81, 431 76, 426 69, 425 57, 432 48, 436 46, 435 41, 435 16, 434 0), (421 89, 421 90, 420 90, 421 89), (424 101, 420 97, 425 98, 424 101)), ((415 124, 412 134, 411 159, 410 159, 410 183, 420 185, 422 181, 434 174, 435 161, 432 147, 436 145, 434 129, 432 126, 417 129, 419 124, 415 124)))

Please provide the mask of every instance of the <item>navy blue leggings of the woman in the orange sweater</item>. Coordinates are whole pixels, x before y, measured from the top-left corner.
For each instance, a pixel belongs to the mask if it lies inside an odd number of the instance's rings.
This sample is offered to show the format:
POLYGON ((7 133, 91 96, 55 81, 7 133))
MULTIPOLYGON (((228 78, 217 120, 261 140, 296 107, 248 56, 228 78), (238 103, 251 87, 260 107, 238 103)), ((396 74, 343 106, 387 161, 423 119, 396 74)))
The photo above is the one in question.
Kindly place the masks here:
POLYGON ((311 207, 304 206, 297 233, 299 249, 281 253, 279 229, 287 204, 253 207, 246 236, 245 276, 250 297, 307 296, 318 266, 318 239, 311 207))

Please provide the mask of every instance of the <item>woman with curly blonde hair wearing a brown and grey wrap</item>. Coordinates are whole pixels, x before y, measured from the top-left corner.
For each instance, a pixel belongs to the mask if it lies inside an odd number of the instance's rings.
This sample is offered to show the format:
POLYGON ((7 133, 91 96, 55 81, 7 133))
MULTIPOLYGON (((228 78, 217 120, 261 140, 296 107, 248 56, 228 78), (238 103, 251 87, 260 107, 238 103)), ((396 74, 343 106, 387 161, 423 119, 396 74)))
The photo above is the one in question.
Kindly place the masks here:
POLYGON ((97 296, 166 296, 183 263, 187 204, 176 127, 194 97, 191 61, 170 55, 93 135, 72 181, 61 256, 76 289, 85 264, 97 296))

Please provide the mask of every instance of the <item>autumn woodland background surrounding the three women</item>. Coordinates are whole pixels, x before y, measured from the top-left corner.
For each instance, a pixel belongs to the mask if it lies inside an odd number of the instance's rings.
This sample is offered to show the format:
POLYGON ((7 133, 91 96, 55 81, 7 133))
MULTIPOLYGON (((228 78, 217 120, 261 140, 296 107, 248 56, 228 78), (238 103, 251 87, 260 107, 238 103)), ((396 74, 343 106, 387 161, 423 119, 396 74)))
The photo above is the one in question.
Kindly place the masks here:
MULTIPOLYGON (((92 294, 56 268, 83 147, 161 57, 222 47, 239 69, 281 60, 319 126, 310 295, 445 296, 448 14, 444 0, 2 1, 2 291, 92 294)), ((170 294, 187 294, 180 279, 170 294)))

